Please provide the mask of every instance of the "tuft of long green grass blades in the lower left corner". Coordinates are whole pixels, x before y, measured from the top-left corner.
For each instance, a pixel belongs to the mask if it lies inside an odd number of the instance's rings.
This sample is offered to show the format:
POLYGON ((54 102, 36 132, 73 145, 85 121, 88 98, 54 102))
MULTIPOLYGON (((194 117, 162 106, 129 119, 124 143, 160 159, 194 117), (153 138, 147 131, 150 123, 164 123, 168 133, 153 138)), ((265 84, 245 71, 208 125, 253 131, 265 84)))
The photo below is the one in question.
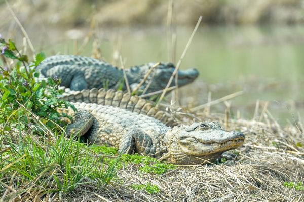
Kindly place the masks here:
MULTIPOLYGON (((120 162, 118 156, 105 164, 86 144, 66 139, 63 133, 52 138, 20 134, 17 142, 7 137, 2 145, 5 147, 9 149, 1 153, 0 178, 7 179, 2 182, 18 190, 5 200, 37 188, 45 194, 65 195, 85 184, 101 187, 115 177, 120 162)), ((5 190, 0 185, 0 193, 5 190)))

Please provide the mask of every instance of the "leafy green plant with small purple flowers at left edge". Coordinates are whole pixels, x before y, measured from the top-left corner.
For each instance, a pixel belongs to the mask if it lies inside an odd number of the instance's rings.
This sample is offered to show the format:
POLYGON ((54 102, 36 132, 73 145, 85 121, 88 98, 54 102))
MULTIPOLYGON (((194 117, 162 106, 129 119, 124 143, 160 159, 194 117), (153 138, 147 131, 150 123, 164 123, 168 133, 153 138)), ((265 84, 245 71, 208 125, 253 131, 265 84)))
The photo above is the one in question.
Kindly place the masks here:
POLYGON ((4 130, 24 129, 37 122, 50 128, 55 126, 54 123, 62 124, 61 117, 68 116, 58 113, 57 108, 75 108, 58 98, 63 92, 58 89, 59 79, 37 80, 36 67, 44 60, 44 53, 37 54, 29 63, 28 56, 22 55, 10 39, 6 42, 0 38, 0 48, 3 58, 15 61, 10 72, 8 67, 0 66, 0 123, 4 124, 4 130))

